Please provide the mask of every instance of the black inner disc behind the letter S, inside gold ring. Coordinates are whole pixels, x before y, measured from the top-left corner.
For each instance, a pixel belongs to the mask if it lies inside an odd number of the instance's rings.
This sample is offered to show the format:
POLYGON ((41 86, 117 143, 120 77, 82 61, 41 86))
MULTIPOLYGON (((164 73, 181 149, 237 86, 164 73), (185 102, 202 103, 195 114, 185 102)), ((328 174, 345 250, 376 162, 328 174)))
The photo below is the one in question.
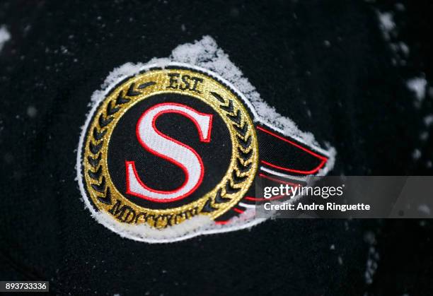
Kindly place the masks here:
POLYGON ((146 208, 174 208, 200 199, 221 181, 229 168, 231 147, 229 129, 212 107, 189 95, 175 93, 153 95, 131 107, 117 122, 108 144, 108 172, 117 190, 129 201, 146 208), (197 151, 204 165, 202 184, 190 196, 169 203, 156 203, 126 194, 125 161, 135 162, 140 179, 152 189, 173 190, 185 182, 183 170, 145 150, 139 143, 135 132, 137 122, 143 112, 163 102, 185 104, 198 112, 212 114, 213 117, 209 143, 200 142, 197 127, 187 117, 166 113, 156 119, 158 131, 197 151))

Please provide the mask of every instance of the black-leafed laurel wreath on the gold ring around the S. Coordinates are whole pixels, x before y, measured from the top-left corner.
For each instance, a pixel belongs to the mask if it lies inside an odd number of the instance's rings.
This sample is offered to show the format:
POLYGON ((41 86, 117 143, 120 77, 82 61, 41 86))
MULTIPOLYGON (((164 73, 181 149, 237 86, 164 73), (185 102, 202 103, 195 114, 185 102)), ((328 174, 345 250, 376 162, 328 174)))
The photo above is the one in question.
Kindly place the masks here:
MULTIPOLYGON (((88 189, 93 191, 96 199, 105 206, 113 204, 113 189, 110 188, 110 184, 108 184, 106 179, 107 176, 105 176, 105 171, 108 170, 103 169, 103 165, 106 165, 106 163, 101 163, 101 160, 103 160, 103 146, 108 127, 112 124, 113 119, 118 116, 118 112, 124 109, 127 103, 142 95, 142 91, 146 88, 156 84, 155 81, 146 81, 144 83, 129 81, 128 83, 129 87, 127 87, 126 91, 121 90, 115 98, 108 96, 111 98, 108 100, 106 105, 106 99, 103 101, 100 107, 98 107, 100 112, 96 112, 96 117, 92 120, 93 124, 91 124, 91 127, 87 131, 88 140, 85 147, 85 155, 87 155, 87 157, 83 160, 83 167, 85 167, 85 173, 88 176, 88 178, 86 178, 88 180, 88 189)), ((222 111, 226 118, 230 120, 231 128, 229 129, 236 132, 236 146, 233 145, 233 149, 236 149, 236 165, 234 165, 231 172, 229 172, 229 176, 226 178, 224 186, 219 187, 217 192, 212 196, 209 196, 204 203, 194 203, 192 207, 187 211, 183 211, 183 213, 158 213, 160 210, 154 210, 156 213, 147 214, 146 217, 142 217, 144 218, 144 222, 151 226, 163 228, 169 225, 178 224, 183 222, 183 220, 197 215, 198 213, 203 213, 205 215, 210 215, 212 218, 217 218, 234 205, 226 208, 226 211, 224 212, 217 210, 221 209, 221 206, 224 206, 224 204, 232 201, 235 196, 238 195, 239 191, 246 191, 244 186, 250 186, 251 184, 251 178, 249 177, 255 175, 258 166, 258 148, 255 130, 253 129, 252 124, 248 123, 248 121, 243 118, 241 114, 242 112, 240 112, 239 109, 241 107, 240 103, 238 103, 240 106, 236 108, 234 107, 233 100, 230 98, 224 98, 215 90, 209 90, 209 93, 219 102, 218 107, 220 111, 222 111), (248 179, 250 179, 250 182, 247 182, 248 179), (247 183, 249 184, 246 185, 247 183), (217 214, 216 212, 219 213, 217 214)), ((245 109, 243 110, 243 113, 248 116, 245 109)), ((121 116, 122 114, 120 117, 121 116)), ((240 199, 238 198, 237 200, 240 199)), ((116 217, 113 211, 108 212, 116 217)), ((131 223, 131 221, 125 220, 122 222, 131 223)), ((135 223, 137 223, 137 219, 135 220, 135 223)))

